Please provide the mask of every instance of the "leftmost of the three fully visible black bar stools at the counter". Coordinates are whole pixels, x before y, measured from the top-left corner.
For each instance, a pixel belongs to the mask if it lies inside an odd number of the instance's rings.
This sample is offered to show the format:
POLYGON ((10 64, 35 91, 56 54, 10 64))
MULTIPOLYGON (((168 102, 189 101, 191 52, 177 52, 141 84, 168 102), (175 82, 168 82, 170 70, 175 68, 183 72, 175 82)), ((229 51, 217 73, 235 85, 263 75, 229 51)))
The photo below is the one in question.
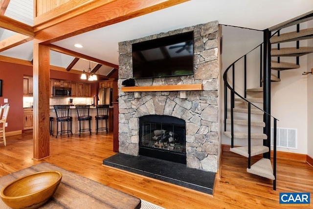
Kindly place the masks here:
POLYGON ((56 121, 57 121, 57 136, 60 133, 67 133, 67 137, 69 137, 68 133, 70 132, 72 135, 72 120, 73 117, 68 116, 69 114, 69 105, 54 105, 53 106, 55 110, 55 115, 56 115, 56 121), (61 131, 59 131, 59 122, 61 123, 61 131), (67 130, 62 130, 62 122, 67 122, 67 130), (69 129, 69 124, 70 123, 70 129, 69 129))

